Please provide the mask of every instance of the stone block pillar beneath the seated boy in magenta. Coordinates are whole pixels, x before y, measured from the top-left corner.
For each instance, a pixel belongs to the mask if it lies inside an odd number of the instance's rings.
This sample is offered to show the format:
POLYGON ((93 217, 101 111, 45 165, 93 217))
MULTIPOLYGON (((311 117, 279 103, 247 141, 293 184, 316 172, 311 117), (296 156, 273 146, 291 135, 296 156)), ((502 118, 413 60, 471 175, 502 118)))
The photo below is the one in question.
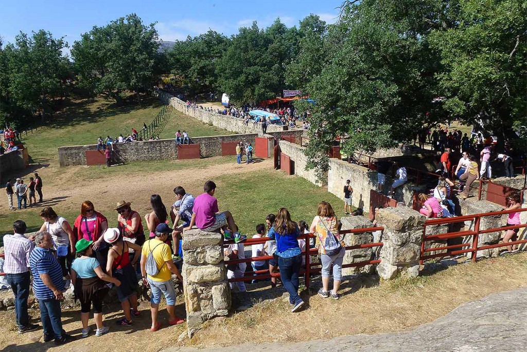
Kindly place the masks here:
POLYGON ((219 233, 192 229, 183 234, 182 275, 189 337, 204 321, 229 314, 231 290, 222 243, 219 233))

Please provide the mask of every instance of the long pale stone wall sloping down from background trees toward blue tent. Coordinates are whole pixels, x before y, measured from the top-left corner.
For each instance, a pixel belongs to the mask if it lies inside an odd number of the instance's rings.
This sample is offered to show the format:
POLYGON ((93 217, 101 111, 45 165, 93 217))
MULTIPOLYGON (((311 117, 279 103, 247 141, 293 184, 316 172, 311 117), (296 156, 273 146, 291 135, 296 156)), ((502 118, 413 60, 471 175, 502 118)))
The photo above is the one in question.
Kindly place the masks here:
MULTIPOLYGON (((261 123, 257 122, 253 124, 249 122, 248 125, 245 124, 243 118, 236 118, 230 115, 220 115, 215 112, 208 112, 200 108, 188 108, 187 104, 166 92, 159 92, 158 98, 167 105, 171 105, 176 110, 192 116, 203 123, 212 124, 216 127, 227 129, 235 133, 262 133, 261 123)), ((286 126, 277 126, 277 125, 267 125, 267 133, 269 132, 282 132, 287 130, 286 126)))

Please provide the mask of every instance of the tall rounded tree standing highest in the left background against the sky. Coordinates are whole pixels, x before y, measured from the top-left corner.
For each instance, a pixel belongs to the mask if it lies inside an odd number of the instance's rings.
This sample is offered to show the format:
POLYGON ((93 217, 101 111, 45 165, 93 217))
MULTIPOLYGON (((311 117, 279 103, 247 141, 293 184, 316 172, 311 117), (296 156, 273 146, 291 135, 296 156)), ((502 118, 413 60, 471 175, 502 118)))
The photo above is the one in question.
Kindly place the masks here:
POLYGON ((94 26, 73 44, 72 56, 81 86, 118 102, 124 90, 144 92, 157 81, 158 33, 136 14, 104 27, 94 26))

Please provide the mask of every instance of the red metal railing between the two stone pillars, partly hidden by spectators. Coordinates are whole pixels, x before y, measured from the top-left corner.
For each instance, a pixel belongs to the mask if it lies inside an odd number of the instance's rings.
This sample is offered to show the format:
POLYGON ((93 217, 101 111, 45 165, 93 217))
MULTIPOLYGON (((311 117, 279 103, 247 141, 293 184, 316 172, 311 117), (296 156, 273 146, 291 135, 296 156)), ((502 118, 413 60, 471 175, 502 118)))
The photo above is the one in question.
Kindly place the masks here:
MULTIPOLYGON (((362 233, 368 233, 368 232, 373 232, 373 231, 377 231, 377 230, 381 230, 382 231, 382 230, 384 230, 384 227, 368 227, 368 228, 359 228, 359 229, 351 229, 351 230, 341 230, 339 232, 339 234, 340 235, 362 234, 362 233)), ((309 239, 310 238, 315 238, 315 235, 314 234, 301 234, 301 235, 298 236, 298 239, 305 239, 306 240, 306 250, 304 250, 304 252, 302 252, 302 255, 304 255, 304 257, 305 257, 306 267, 305 267, 305 269, 300 270, 300 275, 304 275, 304 277, 305 277, 305 286, 306 287, 309 287, 309 280, 310 280, 309 276, 310 276, 310 274, 318 273, 319 271, 322 270, 321 264, 319 262, 311 263, 310 256, 311 255, 317 255, 318 249, 317 248, 309 248, 309 239)), ((264 244, 264 243, 266 243, 269 240, 272 240, 272 239, 270 239, 269 237, 249 238, 245 242, 243 242, 243 245, 244 246, 259 245, 259 244, 264 244)), ((223 247, 227 247, 228 245, 233 244, 233 243, 234 242, 232 240, 225 241, 223 243, 223 247)), ((345 249, 346 250, 354 250, 354 249, 360 249, 360 248, 373 248, 373 247, 382 247, 382 246, 383 246, 383 244, 381 242, 376 242, 376 243, 368 243, 368 244, 361 244, 361 245, 354 245, 354 246, 346 246, 345 249)), ((239 264, 239 263, 251 263, 251 262, 255 262, 257 260, 269 260, 269 259, 272 259, 272 258, 273 258, 272 256, 260 256, 260 257, 250 257, 250 258, 245 258, 245 259, 232 259, 232 260, 228 260, 228 262, 226 262, 226 265, 228 265, 228 264, 239 264)), ((374 264, 378 264, 378 263, 380 263, 379 259, 364 260, 363 262, 359 262, 359 263, 344 264, 342 267, 343 268, 362 267, 362 266, 374 265, 374 264)), ((253 271, 253 270, 248 271, 248 270, 246 270, 243 277, 231 278, 231 279, 229 279, 229 282, 234 283, 234 282, 237 282, 237 281, 264 280, 264 279, 269 279, 271 277, 280 277, 279 268, 277 268, 277 272, 273 273, 273 274, 269 273, 269 269, 257 270, 257 271, 253 271), (254 274, 257 274, 257 275, 254 275, 254 274)))

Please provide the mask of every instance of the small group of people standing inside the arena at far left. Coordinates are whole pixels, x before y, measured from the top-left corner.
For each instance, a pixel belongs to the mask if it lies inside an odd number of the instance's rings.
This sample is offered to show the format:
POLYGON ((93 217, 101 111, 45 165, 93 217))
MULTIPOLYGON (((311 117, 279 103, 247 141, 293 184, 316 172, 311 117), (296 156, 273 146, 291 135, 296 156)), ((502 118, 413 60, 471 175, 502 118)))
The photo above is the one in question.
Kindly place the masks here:
POLYGON ((42 178, 38 176, 38 173, 34 173, 35 177, 29 178, 29 183, 24 183, 23 178, 16 178, 15 182, 11 178, 7 179, 5 184, 5 192, 7 194, 7 204, 9 210, 15 210, 15 204, 13 203, 13 196, 16 195, 18 203, 18 209, 26 209, 29 205, 34 206, 37 204, 36 194, 38 194, 38 203, 42 203, 42 178), (28 202, 29 200, 29 202, 28 202), (29 203, 29 204, 28 204, 29 203))

